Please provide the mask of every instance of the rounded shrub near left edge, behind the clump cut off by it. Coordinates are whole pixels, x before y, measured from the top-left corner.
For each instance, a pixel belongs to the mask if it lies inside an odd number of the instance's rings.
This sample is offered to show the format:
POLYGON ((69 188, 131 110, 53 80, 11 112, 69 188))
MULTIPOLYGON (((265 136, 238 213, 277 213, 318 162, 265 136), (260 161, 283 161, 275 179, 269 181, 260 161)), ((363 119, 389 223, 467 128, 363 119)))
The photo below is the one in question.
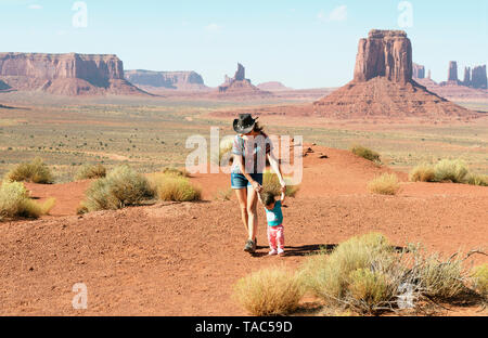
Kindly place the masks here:
POLYGON ((13 182, 33 182, 40 184, 51 184, 54 182, 51 170, 40 157, 36 157, 30 162, 17 165, 7 173, 5 179, 13 182))

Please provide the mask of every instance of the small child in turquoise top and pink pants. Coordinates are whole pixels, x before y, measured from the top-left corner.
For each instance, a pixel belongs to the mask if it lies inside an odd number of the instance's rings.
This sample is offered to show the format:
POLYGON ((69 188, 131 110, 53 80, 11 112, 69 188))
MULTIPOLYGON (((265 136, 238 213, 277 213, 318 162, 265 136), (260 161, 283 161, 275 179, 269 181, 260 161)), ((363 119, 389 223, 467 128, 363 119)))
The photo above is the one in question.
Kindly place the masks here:
POLYGON ((285 200, 285 194, 282 192, 279 200, 274 199, 271 193, 258 194, 259 202, 265 206, 266 219, 268 221, 268 242, 269 255, 284 255, 284 227, 283 212, 281 207, 285 200))

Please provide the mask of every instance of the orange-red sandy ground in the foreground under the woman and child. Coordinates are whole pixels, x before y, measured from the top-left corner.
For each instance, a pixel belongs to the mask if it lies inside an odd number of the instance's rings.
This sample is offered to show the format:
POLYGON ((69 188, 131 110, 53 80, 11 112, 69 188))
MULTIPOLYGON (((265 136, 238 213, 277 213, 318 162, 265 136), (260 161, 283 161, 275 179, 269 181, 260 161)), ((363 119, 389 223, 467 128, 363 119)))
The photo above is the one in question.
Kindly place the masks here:
MULTIPOLYGON (((245 231, 227 174, 195 174, 202 203, 158 203, 75 216, 90 183, 28 184, 34 197, 57 199, 52 216, 0 224, 2 315, 245 315, 232 298, 242 276, 284 263, 354 235, 382 232, 393 244, 422 242, 451 255, 488 247, 488 188, 409 183, 398 196, 371 195, 369 180, 391 172, 346 151, 313 146, 304 181, 284 209, 286 256, 267 257, 264 210, 258 252, 243 252, 245 231), (320 158, 328 155, 329 158, 320 158), (88 310, 74 310, 75 283, 88 287, 88 310)), ((486 256, 470 261, 487 262, 486 256)), ((454 307, 442 315, 486 315, 454 307)))

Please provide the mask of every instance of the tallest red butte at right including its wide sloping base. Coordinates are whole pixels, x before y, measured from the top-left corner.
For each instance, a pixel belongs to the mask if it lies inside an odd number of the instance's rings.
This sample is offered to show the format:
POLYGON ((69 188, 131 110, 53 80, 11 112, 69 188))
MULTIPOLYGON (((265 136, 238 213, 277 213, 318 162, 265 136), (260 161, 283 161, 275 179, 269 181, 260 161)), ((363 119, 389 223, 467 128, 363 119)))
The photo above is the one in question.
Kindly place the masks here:
POLYGON ((412 70, 407 34, 373 29, 359 41, 354 80, 314 102, 313 115, 339 119, 476 115, 427 91, 412 79, 412 70))

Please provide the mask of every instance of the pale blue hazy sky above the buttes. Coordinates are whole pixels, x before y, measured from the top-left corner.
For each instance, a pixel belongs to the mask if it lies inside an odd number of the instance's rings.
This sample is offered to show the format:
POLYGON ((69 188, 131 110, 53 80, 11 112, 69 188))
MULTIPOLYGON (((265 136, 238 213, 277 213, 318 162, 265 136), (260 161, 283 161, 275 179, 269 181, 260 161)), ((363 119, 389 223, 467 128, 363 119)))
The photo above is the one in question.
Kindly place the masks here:
POLYGON ((208 86, 240 62, 254 83, 294 88, 349 81, 372 28, 407 30, 438 81, 451 60, 460 77, 488 60, 487 0, 411 0, 412 16, 399 0, 86 0, 87 27, 73 24, 84 24, 76 2, 0 0, 0 51, 117 54, 126 69, 191 69, 208 86))

